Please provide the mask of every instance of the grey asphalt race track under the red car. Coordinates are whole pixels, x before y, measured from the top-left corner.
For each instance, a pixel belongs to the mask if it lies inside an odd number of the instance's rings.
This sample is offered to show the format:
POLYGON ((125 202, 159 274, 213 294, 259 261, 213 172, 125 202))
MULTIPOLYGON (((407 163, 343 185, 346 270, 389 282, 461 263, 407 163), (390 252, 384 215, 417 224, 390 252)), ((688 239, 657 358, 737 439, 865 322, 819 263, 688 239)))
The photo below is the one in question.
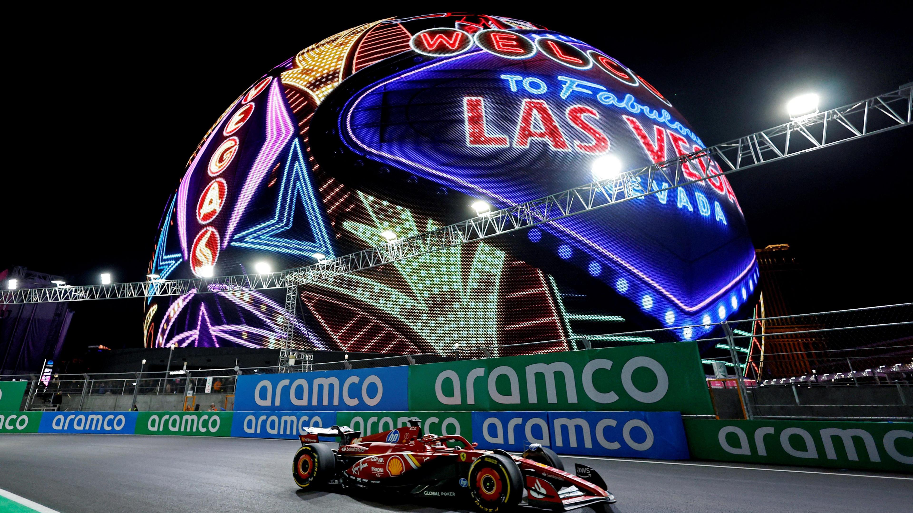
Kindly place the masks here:
MULTIPOLYGON (((452 509, 452 502, 377 502, 300 492, 290 465, 298 446, 297 441, 245 438, 3 434, 0 488, 61 513, 461 510, 452 509)), ((573 459, 565 457, 565 465, 573 459)), ((902 475, 711 462, 580 461, 602 474, 618 497, 614 511, 624 513, 909 511, 913 497, 913 478, 902 475)))

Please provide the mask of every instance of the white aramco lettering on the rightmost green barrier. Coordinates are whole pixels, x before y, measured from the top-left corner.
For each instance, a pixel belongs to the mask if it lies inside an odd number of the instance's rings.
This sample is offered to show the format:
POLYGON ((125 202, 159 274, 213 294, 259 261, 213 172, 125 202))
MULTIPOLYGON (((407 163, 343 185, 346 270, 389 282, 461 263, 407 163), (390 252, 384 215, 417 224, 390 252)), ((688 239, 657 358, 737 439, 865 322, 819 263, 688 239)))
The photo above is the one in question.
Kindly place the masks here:
MULTIPOLYGON (((752 438, 754 440, 755 453, 757 455, 767 455, 767 446, 765 445, 764 436, 767 434, 772 435, 774 434, 774 431, 775 429, 769 426, 759 427, 754 431, 752 438)), ((863 445, 866 447, 866 456, 869 461, 873 463, 881 461, 881 456, 878 455, 876 440, 872 434, 865 429, 839 429, 830 427, 818 430, 818 433, 814 433, 814 431, 809 433, 801 427, 787 427, 780 433, 779 440, 774 435, 772 442, 776 444, 779 441, 783 451, 788 455, 805 459, 821 459, 821 455, 818 454, 818 449, 815 445, 813 434, 817 435, 817 438, 821 442, 821 446, 824 447, 824 455, 827 459, 838 459, 837 452, 834 450, 834 436, 836 436, 838 443, 841 441, 843 442, 846 458, 850 461, 859 461, 859 454, 856 451, 854 437, 858 437, 862 440, 863 445), (802 438, 802 442, 799 442, 799 438, 802 438)), ((885 448, 887 455, 900 463, 913 465, 913 456, 903 455, 897 450, 897 438, 913 439, 913 432, 904 429, 888 431, 880 442, 885 448)), ((738 426, 728 425, 723 427, 719 430, 718 439, 719 446, 730 455, 752 454, 748 435, 738 426), (726 435, 730 433, 735 434, 738 438, 738 446, 729 444, 726 435)), ((767 441, 770 442, 771 440, 767 439, 767 441)))

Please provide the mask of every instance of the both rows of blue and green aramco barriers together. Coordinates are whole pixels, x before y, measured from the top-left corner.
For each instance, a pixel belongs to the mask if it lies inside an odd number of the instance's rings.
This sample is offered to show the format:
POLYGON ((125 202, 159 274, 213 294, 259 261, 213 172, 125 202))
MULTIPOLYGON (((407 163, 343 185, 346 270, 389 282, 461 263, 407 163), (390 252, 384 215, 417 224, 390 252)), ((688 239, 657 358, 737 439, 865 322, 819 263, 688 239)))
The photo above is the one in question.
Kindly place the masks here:
POLYGON ((26 382, 0 382, 0 433, 295 439, 303 427, 374 434, 417 418, 483 448, 913 473, 913 423, 683 419, 714 412, 699 361, 695 342, 675 342, 242 375, 233 412, 23 413, 26 382))

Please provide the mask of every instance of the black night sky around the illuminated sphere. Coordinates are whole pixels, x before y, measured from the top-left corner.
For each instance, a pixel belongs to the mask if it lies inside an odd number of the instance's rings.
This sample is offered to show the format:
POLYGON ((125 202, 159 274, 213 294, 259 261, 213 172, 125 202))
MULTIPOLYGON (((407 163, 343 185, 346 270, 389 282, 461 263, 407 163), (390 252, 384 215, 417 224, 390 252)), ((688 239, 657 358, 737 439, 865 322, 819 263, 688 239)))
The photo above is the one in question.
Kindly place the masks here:
MULTIPOLYGON (((104 271, 144 279, 168 195, 240 92, 323 37, 431 12, 360 7, 340 16, 299 5, 299 13, 289 5, 270 14, 163 7, 118 19, 80 8, 18 19, 20 37, 5 55, 7 91, 18 89, 7 96, 16 120, 6 152, 20 164, 7 164, 0 178, 0 269, 25 266, 72 284, 95 283, 104 271)), ((803 92, 821 95, 826 110, 913 80, 913 37, 881 16, 594 5, 559 14, 487 3, 475 12, 603 49, 662 91, 708 145, 787 121, 786 101, 803 92)), ((907 127, 729 175, 754 245, 796 250, 815 309, 913 298, 911 142, 907 127)), ((71 348, 142 347, 141 300, 70 308, 71 348)))

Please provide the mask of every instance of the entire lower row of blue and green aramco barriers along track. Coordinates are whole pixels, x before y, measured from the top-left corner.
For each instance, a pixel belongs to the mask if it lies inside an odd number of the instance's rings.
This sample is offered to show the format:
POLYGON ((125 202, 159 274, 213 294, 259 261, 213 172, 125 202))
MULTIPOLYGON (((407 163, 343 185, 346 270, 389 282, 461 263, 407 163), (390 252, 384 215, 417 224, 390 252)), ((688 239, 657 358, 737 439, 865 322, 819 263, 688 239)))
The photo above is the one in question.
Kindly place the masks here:
POLYGON ((677 412, 0 412, 0 434, 297 439, 301 427, 349 425, 374 434, 410 419, 422 420, 426 433, 460 434, 484 449, 519 452, 536 443, 561 455, 913 474, 913 423, 725 421, 683 419, 677 412))

